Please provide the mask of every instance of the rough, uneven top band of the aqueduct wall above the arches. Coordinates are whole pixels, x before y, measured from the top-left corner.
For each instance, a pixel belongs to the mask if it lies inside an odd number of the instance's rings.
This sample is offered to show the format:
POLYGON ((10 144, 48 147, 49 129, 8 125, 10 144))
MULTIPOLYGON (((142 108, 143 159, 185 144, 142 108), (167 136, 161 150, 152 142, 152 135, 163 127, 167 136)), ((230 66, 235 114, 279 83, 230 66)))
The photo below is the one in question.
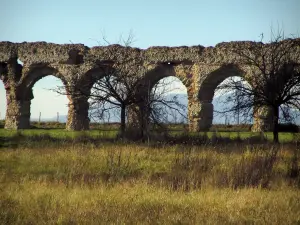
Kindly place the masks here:
MULTIPOLYGON (((300 38, 287 39, 299 46, 300 38)), ((54 44, 47 42, 0 42, 0 62, 11 58, 20 59, 25 65, 48 64, 94 64, 97 61, 116 60, 116 58, 129 57, 129 59, 142 61, 147 64, 161 62, 184 62, 187 64, 223 64, 238 63, 233 54, 235 48, 251 48, 260 42, 233 41, 222 42, 215 47, 197 46, 153 46, 147 49, 124 47, 121 45, 108 45, 87 47, 83 44, 54 44), (114 53, 112 56, 111 52, 114 53)), ((264 44, 268 46, 270 44, 264 44)))

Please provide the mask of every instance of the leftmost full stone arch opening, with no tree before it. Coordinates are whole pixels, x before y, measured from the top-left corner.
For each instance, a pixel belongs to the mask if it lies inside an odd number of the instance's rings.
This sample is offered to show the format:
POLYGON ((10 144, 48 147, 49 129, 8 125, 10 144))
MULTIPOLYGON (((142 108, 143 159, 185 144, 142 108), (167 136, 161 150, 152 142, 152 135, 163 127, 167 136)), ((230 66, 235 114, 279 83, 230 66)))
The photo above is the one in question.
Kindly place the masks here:
MULTIPOLYGON (((22 80, 19 98, 23 102, 23 116, 32 123, 52 122, 51 128, 64 128, 68 115, 69 99, 66 80, 52 67, 35 65, 22 80), (54 123, 55 122, 55 123, 54 123)), ((29 122, 28 122, 29 123, 29 122)), ((41 126, 41 124, 39 124, 41 126)), ((47 128, 47 126, 42 126, 47 128)))

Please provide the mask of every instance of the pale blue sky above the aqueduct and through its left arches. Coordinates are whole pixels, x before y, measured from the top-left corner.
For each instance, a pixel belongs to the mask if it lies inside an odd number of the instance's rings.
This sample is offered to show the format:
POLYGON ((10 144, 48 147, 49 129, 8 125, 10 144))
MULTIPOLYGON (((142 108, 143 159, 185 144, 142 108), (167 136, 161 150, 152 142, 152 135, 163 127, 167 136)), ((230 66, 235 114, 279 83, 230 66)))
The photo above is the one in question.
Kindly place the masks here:
MULTIPOLYGON (((130 30, 133 46, 203 45, 258 41, 270 28, 300 36, 300 0, 0 0, 0 41, 47 41, 97 45, 103 34, 111 43, 130 30)), ((31 113, 52 118, 67 112, 67 99, 46 89, 61 85, 46 77, 34 86, 31 113), (54 97, 56 98, 54 99, 54 97)), ((0 119, 6 100, 0 82, 0 119)))

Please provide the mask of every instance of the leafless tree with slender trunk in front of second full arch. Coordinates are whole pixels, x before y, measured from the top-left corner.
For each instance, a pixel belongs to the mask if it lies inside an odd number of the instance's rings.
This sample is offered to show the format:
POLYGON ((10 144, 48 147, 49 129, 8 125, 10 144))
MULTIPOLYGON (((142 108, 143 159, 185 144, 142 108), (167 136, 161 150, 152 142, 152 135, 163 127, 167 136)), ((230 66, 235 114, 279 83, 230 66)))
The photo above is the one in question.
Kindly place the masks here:
MULTIPOLYGON (((128 35, 127 39, 120 37, 120 42, 124 47, 122 57, 119 57, 113 48, 108 48, 107 52, 112 65, 103 68, 102 78, 94 82, 91 92, 88 93, 93 116, 95 116, 95 112, 101 118, 105 114, 110 114, 112 110, 114 112, 120 111, 122 137, 126 129, 126 109, 136 103, 136 89, 140 85, 140 75, 144 73, 142 66, 130 66, 132 63, 129 57, 131 54, 130 45, 133 38, 132 33, 128 35)), ((105 37, 103 40, 106 44, 110 44, 105 37)))

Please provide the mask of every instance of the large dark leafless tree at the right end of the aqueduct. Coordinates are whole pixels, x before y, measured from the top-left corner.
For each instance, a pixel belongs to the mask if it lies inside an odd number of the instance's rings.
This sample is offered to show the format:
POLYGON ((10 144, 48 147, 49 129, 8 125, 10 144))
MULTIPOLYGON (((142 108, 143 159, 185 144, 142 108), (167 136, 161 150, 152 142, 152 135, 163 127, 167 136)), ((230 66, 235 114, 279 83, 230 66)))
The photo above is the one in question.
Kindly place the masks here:
POLYGON ((218 87, 231 93, 226 95, 225 102, 228 104, 224 112, 252 116, 252 113, 260 113, 261 109, 271 109, 273 138, 278 143, 280 109, 288 121, 292 119, 291 110, 300 110, 299 46, 300 39, 285 39, 282 30, 276 34, 271 32, 270 43, 237 46, 234 53, 251 70, 249 76, 245 74, 249 83, 245 79, 243 82, 230 79, 218 87))

